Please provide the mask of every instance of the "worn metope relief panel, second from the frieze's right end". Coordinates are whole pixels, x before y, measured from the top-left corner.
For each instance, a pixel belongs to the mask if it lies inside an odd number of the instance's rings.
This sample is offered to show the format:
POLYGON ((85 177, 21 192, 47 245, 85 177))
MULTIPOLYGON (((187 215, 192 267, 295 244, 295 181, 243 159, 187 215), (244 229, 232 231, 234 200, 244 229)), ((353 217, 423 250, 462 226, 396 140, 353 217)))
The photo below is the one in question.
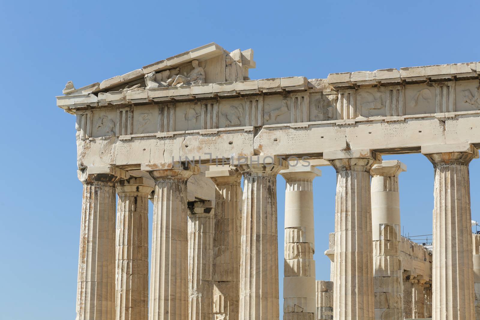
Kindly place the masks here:
POLYGON ((435 88, 430 84, 409 84, 405 87, 405 114, 435 113, 435 88))

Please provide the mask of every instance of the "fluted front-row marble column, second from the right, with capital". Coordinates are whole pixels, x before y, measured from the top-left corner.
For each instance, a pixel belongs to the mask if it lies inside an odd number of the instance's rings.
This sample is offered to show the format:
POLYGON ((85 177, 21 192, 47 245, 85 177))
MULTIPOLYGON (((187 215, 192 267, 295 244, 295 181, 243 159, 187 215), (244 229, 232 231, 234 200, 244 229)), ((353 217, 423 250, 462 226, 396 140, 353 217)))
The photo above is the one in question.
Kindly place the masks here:
POLYGON ((334 319, 374 319, 370 150, 325 152, 337 172, 334 319))

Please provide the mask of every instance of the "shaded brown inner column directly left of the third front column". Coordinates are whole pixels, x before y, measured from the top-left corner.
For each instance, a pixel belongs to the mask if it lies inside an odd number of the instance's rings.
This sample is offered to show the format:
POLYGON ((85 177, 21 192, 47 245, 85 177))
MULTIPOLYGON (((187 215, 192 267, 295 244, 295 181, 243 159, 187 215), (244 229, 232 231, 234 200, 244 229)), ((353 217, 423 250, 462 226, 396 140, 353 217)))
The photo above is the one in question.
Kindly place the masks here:
POLYGON ((205 176, 216 185, 213 238, 213 312, 238 320, 240 291, 241 174, 234 167, 210 166, 205 176))

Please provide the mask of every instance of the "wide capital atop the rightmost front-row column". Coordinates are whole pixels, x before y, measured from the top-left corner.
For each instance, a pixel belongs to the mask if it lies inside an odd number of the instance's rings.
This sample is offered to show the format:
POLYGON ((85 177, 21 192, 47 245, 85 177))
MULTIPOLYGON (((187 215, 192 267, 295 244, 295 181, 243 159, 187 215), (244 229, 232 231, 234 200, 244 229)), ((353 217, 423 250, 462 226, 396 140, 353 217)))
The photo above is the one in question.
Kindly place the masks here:
POLYGON ((434 167, 448 165, 467 166, 474 158, 479 157, 479 151, 470 143, 424 145, 424 154, 434 167))

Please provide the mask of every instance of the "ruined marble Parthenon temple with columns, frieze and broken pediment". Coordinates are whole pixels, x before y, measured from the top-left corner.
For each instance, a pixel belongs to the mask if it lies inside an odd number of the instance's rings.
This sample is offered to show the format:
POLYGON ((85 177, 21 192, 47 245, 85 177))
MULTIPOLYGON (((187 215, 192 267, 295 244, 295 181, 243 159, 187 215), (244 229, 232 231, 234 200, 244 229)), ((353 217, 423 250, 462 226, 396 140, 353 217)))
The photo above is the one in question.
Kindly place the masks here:
POLYGON ((279 319, 282 175, 284 320, 480 320, 480 62, 326 79, 252 68, 252 49, 210 43, 57 96, 84 186, 76 319, 279 319), (401 237, 408 168, 382 159, 412 153, 434 173, 431 250, 401 237), (322 166, 337 173, 335 232, 316 248, 329 281, 313 259, 322 166))

